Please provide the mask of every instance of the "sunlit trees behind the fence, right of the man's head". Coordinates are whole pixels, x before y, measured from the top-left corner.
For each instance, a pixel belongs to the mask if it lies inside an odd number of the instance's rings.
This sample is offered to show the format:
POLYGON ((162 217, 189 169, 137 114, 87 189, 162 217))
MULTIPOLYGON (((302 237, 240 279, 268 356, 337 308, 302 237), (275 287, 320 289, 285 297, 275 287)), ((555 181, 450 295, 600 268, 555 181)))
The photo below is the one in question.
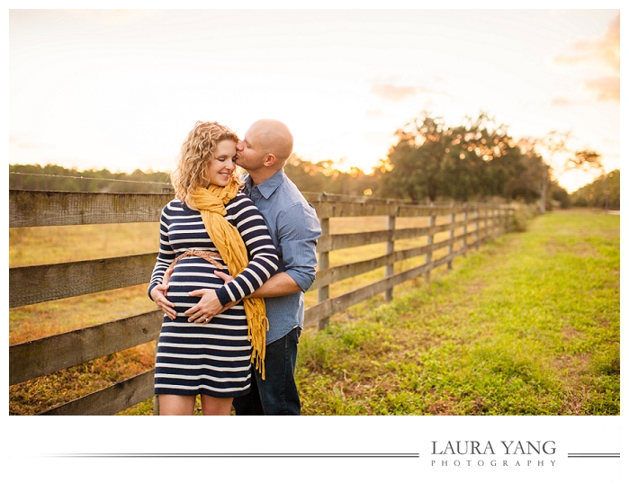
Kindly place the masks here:
MULTIPOLYGON (((413 203, 538 202, 544 211, 576 204, 574 195, 558 183, 546 158, 567 156, 558 173, 603 170, 598 152, 568 148, 569 133, 552 131, 542 138, 516 140, 505 125, 482 112, 454 127, 425 113, 395 135, 397 142, 373 174, 358 168, 343 173, 332 161, 311 163, 299 157, 289 161, 286 173, 308 192, 366 194, 413 203)), ((579 204, 595 202, 599 201, 580 200, 579 204)))

